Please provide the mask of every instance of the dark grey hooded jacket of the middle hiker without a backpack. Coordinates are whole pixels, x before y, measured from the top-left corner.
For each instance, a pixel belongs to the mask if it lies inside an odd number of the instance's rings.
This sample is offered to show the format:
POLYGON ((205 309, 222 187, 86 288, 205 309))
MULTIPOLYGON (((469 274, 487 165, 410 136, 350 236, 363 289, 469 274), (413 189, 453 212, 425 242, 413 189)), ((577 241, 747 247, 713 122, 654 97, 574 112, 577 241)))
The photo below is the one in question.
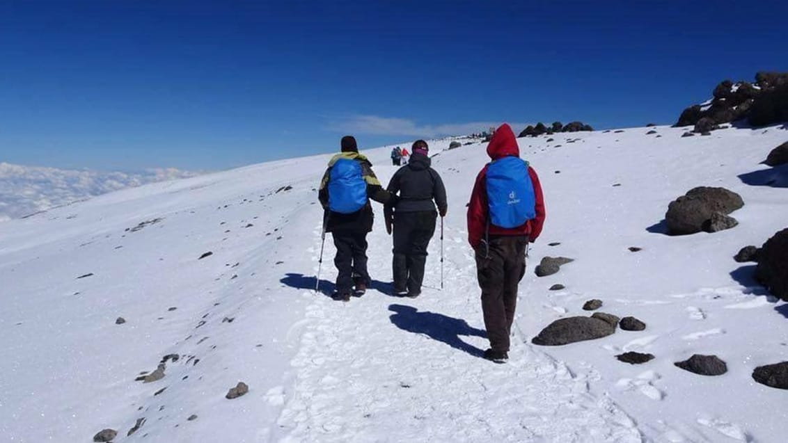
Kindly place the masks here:
MULTIPOLYGON (((426 155, 414 153, 411 161, 394 173, 386 189, 392 194, 400 194, 399 200, 393 205, 396 212, 435 211, 437 205, 441 214, 446 213, 446 188, 440 175, 430 168, 430 163, 426 155)), ((387 205, 387 217, 390 210, 387 205)))

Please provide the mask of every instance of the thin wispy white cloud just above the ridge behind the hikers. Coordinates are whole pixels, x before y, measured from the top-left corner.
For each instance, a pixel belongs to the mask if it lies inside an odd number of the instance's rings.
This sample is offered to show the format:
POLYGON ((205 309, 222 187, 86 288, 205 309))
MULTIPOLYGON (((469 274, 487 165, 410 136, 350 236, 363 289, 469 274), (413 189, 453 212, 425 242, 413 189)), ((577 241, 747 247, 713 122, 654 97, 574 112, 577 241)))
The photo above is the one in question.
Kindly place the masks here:
MULTIPOLYGON (((371 135, 403 135, 411 137, 434 138, 444 135, 467 135, 481 131, 487 131, 490 127, 497 127, 502 122, 495 121, 475 121, 470 123, 458 124, 416 124, 413 120, 381 117, 381 116, 351 116, 348 119, 336 121, 329 124, 331 131, 344 132, 348 134, 371 134, 371 135)), ((526 127, 526 124, 510 123, 515 128, 526 127)))

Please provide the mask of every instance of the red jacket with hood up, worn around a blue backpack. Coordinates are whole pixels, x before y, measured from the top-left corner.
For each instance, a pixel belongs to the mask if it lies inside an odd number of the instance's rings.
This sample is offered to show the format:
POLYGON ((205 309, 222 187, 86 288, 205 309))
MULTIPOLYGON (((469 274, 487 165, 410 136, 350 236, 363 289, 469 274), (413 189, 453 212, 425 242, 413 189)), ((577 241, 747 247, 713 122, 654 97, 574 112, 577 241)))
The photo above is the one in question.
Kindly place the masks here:
MULTIPOLYGON (((487 155, 492 160, 507 156, 520 157, 520 149, 517 146, 515 133, 511 131, 508 124, 502 124, 492 135, 492 139, 487 146, 487 155)), ((474 249, 481 244, 481 240, 485 238, 485 230, 487 228, 487 219, 489 216, 489 207, 487 205, 487 165, 481 169, 479 175, 476 177, 474 184, 474 191, 470 194, 470 204, 468 205, 468 242, 474 249)), ((537 172, 530 166, 528 167, 528 175, 530 175, 531 182, 533 183, 533 193, 536 198, 536 216, 528 220, 525 224, 511 229, 497 227, 494 225, 489 226, 490 235, 527 235, 530 241, 533 242, 541 234, 542 224, 545 223, 545 199, 542 196, 541 185, 539 184, 539 177, 537 172)))

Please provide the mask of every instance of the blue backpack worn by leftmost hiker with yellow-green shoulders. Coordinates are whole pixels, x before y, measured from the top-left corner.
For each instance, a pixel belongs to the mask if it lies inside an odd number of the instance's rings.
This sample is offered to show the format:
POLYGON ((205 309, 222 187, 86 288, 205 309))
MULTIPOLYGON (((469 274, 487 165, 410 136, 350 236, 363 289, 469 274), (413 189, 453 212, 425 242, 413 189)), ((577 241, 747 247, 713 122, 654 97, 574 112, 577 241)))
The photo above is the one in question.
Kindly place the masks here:
POLYGON ((366 182, 361 164, 349 158, 340 158, 331 167, 329 176, 329 209, 351 214, 366 205, 366 182))

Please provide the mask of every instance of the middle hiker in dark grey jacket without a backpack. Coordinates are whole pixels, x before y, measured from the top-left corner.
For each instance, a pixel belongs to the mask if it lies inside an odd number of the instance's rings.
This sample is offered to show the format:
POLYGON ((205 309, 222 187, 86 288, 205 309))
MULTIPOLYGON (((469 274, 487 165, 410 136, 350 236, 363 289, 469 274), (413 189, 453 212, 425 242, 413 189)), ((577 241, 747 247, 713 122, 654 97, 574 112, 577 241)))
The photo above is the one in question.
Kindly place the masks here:
POLYGON ((394 173, 386 188, 392 194, 399 193, 399 198, 383 210, 388 234, 394 225, 394 293, 418 297, 422 292, 427 245, 435 233, 438 214, 446 216, 447 204, 443 180, 429 166, 429 146, 424 140, 416 140, 411 149, 411 161, 394 173))

